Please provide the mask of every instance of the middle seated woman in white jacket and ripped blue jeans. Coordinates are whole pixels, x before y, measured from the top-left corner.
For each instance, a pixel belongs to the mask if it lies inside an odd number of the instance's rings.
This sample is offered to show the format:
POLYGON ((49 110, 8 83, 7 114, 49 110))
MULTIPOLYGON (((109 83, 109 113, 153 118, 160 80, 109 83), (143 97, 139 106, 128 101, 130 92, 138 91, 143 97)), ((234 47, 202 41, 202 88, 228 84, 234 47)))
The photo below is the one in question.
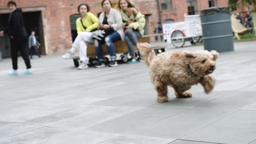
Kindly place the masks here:
POLYGON ((124 30, 122 27, 123 21, 121 14, 112 9, 111 2, 109 0, 103 0, 101 2, 101 6, 103 7, 103 12, 100 14, 99 29, 104 29, 108 36, 103 39, 103 41, 96 40, 94 42, 95 50, 97 51, 98 63, 95 65, 95 68, 104 67, 103 63, 103 52, 102 52, 102 44, 106 43, 109 55, 110 55, 110 67, 117 66, 116 62, 116 53, 114 43, 120 40, 124 40, 124 30))

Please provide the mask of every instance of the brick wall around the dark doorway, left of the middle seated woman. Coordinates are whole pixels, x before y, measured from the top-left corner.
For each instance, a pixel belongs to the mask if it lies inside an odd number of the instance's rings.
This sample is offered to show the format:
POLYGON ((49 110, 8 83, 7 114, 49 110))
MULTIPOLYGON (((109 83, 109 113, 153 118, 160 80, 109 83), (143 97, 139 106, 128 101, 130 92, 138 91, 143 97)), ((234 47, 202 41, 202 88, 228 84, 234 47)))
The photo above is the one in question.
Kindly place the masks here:
MULTIPOLYGON (((9 0, 0 1, 0 9, 6 9, 6 4, 9 0)), ((63 53, 70 49, 71 41, 71 30, 69 15, 78 13, 77 5, 81 1, 73 0, 16 0, 17 7, 45 7, 43 14, 43 29, 46 37, 45 42, 47 43, 47 54, 63 53)), ((93 0, 87 0, 86 3, 94 3, 93 0)), ((92 10, 94 14, 99 9, 92 10)))

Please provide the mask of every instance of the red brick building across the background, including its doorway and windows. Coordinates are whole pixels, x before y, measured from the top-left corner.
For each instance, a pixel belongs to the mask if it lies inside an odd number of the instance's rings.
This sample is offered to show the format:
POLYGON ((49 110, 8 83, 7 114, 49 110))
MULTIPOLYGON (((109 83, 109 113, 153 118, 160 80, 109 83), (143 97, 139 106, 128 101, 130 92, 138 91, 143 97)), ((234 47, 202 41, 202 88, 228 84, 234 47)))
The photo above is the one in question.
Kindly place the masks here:
MULTIPOLYGON (((0 1, 0 30, 7 26, 9 11, 6 9, 9 0, 0 1)), ((117 0, 116 0, 117 1, 117 0)), ((63 53, 70 49, 71 16, 77 14, 77 5, 87 3, 91 5, 91 12, 95 15, 101 11, 101 5, 95 5, 100 0, 16 0, 17 6, 23 10, 27 32, 36 30, 41 42, 42 54, 63 53)), ((147 16, 146 33, 153 34, 154 27, 159 20, 156 0, 134 1, 138 9, 147 16)), ((198 14, 200 10, 210 6, 227 6, 228 0, 159 0, 162 7, 163 22, 177 22, 184 20, 184 13, 198 14)), ((0 37, 0 51, 3 57, 9 57, 10 45, 8 38, 0 37)))

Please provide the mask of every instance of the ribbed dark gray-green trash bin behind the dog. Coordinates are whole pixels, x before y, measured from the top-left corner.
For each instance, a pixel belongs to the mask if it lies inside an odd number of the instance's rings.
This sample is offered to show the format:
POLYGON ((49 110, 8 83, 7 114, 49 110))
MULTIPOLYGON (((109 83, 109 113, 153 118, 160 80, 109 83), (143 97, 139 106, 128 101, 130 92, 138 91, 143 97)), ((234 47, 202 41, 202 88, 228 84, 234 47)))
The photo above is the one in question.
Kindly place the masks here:
POLYGON ((234 51, 229 7, 210 7, 201 11, 204 49, 234 51))

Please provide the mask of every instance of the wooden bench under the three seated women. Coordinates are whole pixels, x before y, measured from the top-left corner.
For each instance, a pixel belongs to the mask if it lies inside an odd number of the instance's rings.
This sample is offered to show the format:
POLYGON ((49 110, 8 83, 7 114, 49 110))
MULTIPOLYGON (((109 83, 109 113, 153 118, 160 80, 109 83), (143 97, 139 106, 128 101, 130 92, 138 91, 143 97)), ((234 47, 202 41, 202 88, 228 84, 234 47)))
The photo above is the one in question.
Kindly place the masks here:
MULTIPOLYGON (((163 35, 164 34, 145 35, 145 36, 142 36, 141 38, 138 38, 138 42, 139 43, 150 43, 150 37, 163 36, 163 35)), ((127 56, 127 53, 129 53, 129 49, 128 49, 128 46, 125 41, 115 42, 114 46, 115 46, 116 54, 126 54, 126 56, 127 56)), ((163 45, 162 46, 153 46, 151 48, 152 48, 152 50, 155 50, 156 54, 158 54, 159 53, 158 50, 161 50, 163 52, 165 47, 166 47, 166 45, 165 46, 163 46, 163 45)), ((134 48, 135 48, 135 51, 138 51, 137 47, 134 47, 134 48)), ((102 50, 103 50, 103 55, 109 55, 105 44, 102 45, 102 50)), ((95 58, 96 56, 97 56, 97 52, 95 51, 94 44, 91 43, 91 44, 87 45, 87 57, 95 58)), ((76 55, 75 57, 73 57, 73 60, 74 60, 75 66, 78 67, 79 66, 79 55, 76 55)), ((124 59, 122 58, 123 62, 125 62, 126 60, 127 60, 127 57, 124 59)))

